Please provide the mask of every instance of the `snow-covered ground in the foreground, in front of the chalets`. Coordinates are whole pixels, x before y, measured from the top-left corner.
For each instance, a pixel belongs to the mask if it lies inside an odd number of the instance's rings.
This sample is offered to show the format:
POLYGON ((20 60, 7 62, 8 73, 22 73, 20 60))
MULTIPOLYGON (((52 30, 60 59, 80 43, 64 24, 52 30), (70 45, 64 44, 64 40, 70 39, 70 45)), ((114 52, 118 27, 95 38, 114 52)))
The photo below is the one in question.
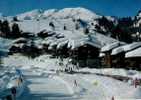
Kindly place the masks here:
MULTIPOLYGON (((91 72, 91 74, 67 74, 56 70, 63 69, 59 66, 58 59, 42 55, 30 59, 20 54, 15 54, 3 59, 3 65, 14 66, 21 69, 28 88, 25 89, 19 100, 109 100, 140 99, 140 87, 135 88, 127 82, 122 82, 110 77, 98 76, 93 73, 102 73, 121 76, 140 77, 138 71, 124 69, 79 69, 78 72, 91 72)), ((71 66, 71 65, 70 65, 71 66)), ((9 67, 10 68, 10 67, 9 67)))

